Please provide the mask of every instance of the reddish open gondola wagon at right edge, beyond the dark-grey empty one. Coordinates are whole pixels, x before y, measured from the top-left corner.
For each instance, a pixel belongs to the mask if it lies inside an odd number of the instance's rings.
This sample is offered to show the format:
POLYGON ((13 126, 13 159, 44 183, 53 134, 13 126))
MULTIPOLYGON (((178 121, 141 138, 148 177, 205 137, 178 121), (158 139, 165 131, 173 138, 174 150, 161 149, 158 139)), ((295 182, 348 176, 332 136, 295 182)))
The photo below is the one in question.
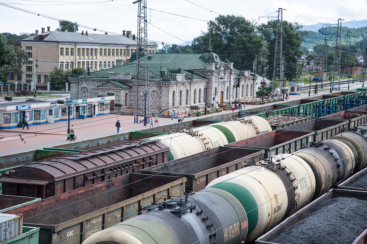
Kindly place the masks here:
POLYGON ((367 123, 367 111, 344 110, 319 119, 348 120, 348 128, 354 128, 367 123))

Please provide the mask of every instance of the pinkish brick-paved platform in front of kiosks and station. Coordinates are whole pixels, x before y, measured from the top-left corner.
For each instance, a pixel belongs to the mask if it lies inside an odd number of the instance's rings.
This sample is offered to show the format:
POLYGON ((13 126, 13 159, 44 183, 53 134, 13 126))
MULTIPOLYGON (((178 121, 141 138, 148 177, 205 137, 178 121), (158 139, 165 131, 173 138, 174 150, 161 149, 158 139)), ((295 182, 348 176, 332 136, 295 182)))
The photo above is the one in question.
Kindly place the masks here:
MULTIPOLYGON (((308 97, 307 95, 290 95, 291 100, 298 100, 308 97)), ((262 105, 246 105, 246 110, 258 108, 262 105)), ((182 111, 181 111, 182 112, 182 111)), ((231 110, 214 113, 211 115, 204 115, 200 118, 210 119, 218 116, 221 113, 231 113, 231 110)), ((186 117, 185 121, 193 120, 197 117, 186 117)), ((117 129, 115 123, 120 120, 120 133, 141 130, 149 128, 150 124, 143 126, 142 123, 134 123, 134 116, 132 115, 103 115, 79 120, 70 120, 70 127, 74 125, 75 135, 77 141, 99 138, 116 134, 117 129)), ((159 118, 159 125, 168 125, 177 123, 177 119, 159 118)), ((0 130, 0 156, 14 153, 21 153, 25 151, 42 149, 43 147, 52 147, 65 144, 68 129, 68 121, 60 121, 57 123, 47 123, 42 125, 32 125, 28 129, 21 127, 14 129, 0 130), (23 141, 22 141, 22 139, 23 141)), ((70 142, 73 143, 73 142, 70 142)))

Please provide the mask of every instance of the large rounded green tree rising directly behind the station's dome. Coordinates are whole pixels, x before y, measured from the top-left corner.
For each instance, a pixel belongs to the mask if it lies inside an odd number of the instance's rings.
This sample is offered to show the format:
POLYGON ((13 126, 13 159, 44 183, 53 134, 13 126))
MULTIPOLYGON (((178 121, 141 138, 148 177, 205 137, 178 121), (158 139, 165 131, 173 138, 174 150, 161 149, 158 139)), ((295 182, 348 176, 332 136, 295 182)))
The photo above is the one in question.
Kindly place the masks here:
POLYGON ((245 61, 248 65, 254 61, 255 56, 262 57, 267 52, 266 44, 257 34, 256 24, 240 15, 220 15, 208 23, 207 32, 193 40, 191 49, 197 52, 201 46, 201 52, 206 52, 210 35, 210 48, 213 52, 221 60, 233 62, 234 67, 243 68, 245 61))

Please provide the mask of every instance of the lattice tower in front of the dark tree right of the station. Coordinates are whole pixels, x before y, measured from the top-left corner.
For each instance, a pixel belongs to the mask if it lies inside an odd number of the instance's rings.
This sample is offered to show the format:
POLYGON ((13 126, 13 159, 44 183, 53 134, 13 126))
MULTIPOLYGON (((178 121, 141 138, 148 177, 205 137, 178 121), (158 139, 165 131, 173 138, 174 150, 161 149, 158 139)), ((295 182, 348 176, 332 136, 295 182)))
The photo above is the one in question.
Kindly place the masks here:
POLYGON ((275 54, 274 54, 274 70, 273 70, 273 87, 272 94, 274 94, 274 88, 277 88, 275 83, 276 78, 280 82, 284 82, 283 73, 283 8, 278 9, 278 20, 276 26, 276 37, 275 37, 275 54))

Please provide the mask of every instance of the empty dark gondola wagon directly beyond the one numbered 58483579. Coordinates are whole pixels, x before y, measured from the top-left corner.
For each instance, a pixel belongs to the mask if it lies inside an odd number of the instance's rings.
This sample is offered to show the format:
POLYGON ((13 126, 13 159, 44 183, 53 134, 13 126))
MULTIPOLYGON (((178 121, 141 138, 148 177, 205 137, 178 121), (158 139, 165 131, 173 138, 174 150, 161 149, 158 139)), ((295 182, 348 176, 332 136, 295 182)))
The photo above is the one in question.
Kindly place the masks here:
POLYGON ((263 150, 216 147, 143 170, 143 174, 186 177, 186 192, 200 191, 212 180, 262 159, 263 150))

